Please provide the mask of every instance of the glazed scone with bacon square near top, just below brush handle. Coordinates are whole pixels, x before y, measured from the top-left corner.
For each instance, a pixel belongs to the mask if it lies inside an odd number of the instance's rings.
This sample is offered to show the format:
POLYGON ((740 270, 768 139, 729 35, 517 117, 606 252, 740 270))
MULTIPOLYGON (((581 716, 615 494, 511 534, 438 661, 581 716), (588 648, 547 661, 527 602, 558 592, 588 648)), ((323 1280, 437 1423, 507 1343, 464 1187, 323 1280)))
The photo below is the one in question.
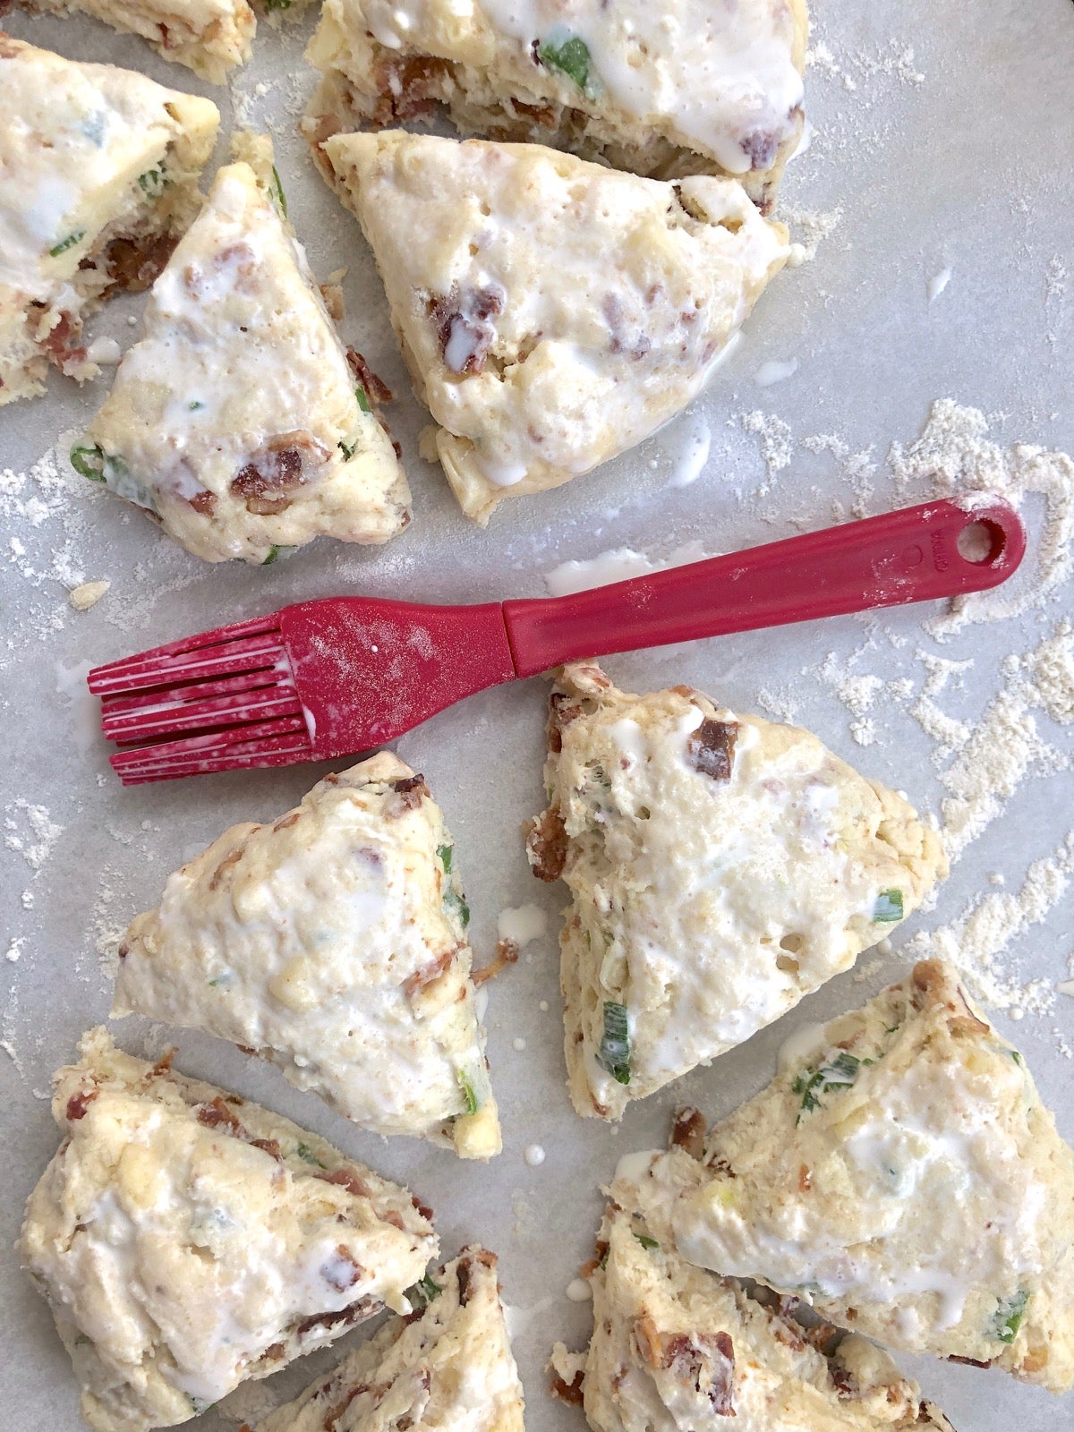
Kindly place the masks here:
POLYGON ((621 1118, 778 1020, 947 874, 932 831, 816 736, 593 664, 550 696, 534 874, 560 935, 570 1093, 621 1118))

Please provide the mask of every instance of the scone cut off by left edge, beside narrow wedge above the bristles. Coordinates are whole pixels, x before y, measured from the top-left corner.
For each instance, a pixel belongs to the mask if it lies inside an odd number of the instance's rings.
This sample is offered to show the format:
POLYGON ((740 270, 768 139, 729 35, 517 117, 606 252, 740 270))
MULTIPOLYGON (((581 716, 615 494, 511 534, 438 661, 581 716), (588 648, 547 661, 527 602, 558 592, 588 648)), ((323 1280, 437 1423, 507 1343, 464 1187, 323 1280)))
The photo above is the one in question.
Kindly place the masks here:
POLYGON ((147 288, 198 212, 219 110, 0 32, 0 405, 100 368, 82 321, 147 288))

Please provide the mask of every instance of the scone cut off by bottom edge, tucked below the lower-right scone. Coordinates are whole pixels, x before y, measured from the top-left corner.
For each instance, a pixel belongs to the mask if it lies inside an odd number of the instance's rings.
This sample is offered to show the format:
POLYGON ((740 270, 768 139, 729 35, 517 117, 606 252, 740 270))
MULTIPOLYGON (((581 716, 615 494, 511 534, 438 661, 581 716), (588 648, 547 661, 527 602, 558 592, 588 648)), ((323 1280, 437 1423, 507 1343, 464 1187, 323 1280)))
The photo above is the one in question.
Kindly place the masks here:
POLYGON ((806 1330, 775 1295, 693 1267, 617 1204, 590 1286, 589 1350, 557 1345, 553 1368, 594 1432, 952 1432, 879 1348, 806 1330))

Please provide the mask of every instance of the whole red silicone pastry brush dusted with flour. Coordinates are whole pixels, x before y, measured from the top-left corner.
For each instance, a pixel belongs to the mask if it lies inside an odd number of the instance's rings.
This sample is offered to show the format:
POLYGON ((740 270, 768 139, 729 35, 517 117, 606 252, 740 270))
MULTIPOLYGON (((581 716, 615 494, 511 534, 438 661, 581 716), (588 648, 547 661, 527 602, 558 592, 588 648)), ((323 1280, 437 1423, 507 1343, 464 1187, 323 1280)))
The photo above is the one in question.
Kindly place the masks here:
POLYGON ((567 597, 299 601, 99 666, 125 785, 369 750, 563 662, 995 587, 1025 533, 1001 501, 925 503, 567 597))

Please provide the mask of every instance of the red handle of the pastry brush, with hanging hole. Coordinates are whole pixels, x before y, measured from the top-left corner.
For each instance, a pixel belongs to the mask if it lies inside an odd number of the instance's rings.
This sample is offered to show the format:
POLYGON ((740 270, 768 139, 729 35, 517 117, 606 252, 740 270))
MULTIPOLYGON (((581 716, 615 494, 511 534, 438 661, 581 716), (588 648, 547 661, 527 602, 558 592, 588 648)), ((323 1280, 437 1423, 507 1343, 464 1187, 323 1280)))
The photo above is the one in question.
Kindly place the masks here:
POLYGON ((1025 530, 1005 503, 922 503, 503 611, 518 676, 536 676, 579 657, 982 591, 1024 553, 1025 530), (984 550, 967 557, 958 538, 969 528, 984 550))

